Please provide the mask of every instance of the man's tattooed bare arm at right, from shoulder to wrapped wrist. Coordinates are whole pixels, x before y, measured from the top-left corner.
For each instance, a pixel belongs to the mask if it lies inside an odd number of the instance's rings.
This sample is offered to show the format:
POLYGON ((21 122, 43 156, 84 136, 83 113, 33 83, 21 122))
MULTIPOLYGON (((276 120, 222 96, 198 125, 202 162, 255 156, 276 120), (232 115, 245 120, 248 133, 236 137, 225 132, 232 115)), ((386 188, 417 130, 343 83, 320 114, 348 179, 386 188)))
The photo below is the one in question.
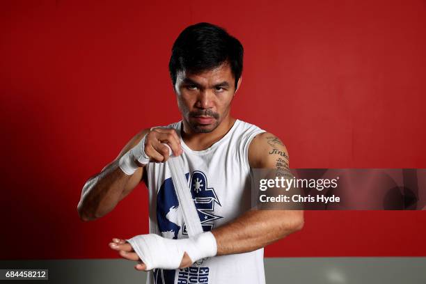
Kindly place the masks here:
MULTIPOLYGON (((258 134, 251 142, 248 162, 251 168, 289 169, 285 145, 267 132, 258 134)), ((212 233, 216 238, 217 255, 226 255, 254 251, 301 228, 303 210, 248 210, 212 233)))

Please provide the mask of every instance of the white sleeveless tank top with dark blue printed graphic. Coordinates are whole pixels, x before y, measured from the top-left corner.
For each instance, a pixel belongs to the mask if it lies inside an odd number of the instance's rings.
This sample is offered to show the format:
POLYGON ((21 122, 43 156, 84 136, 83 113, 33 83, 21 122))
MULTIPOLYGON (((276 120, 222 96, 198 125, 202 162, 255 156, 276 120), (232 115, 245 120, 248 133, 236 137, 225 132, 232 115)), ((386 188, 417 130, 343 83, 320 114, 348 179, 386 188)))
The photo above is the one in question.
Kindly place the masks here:
MULTIPOLYGON (((176 129, 180 136, 181 126, 182 121, 167 127, 176 129)), ((184 150, 180 159, 205 231, 228 223, 251 208, 248 145, 255 135, 262 132, 265 130, 236 120, 221 140, 201 151, 191 150, 180 137, 184 150)), ((150 232, 170 239, 187 237, 168 166, 149 163, 146 171, 150 232)), ((202 265, 186 269, 153 269, 148 271, 147 283, 265 283, 263 248, 248 253, 219 255, 204 260, 202 265)))

